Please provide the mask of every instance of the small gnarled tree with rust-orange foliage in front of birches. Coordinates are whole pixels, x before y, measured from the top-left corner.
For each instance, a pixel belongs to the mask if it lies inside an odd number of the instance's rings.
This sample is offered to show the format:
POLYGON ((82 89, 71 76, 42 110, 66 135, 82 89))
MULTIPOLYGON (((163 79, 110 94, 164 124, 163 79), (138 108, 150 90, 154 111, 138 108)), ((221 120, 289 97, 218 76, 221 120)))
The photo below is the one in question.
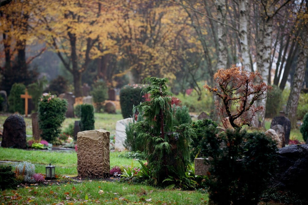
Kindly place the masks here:
POLYGON ((232 65, 229 69, 219 69, 214 74, 214 81, 218 87, 204 85, 210 92, 215 93, 220 101, 215 105, 219 109, 219 117, 225 128, 228 118, 232 127, 252 126, 252 120, 257 112, 262 111, 262 106, 255 107, 253 103, 264 99, 271 86, 262 81, 258 72, 248 72, 244 67, 232 65), (236 109, 232 110, 234 106, 236 109))

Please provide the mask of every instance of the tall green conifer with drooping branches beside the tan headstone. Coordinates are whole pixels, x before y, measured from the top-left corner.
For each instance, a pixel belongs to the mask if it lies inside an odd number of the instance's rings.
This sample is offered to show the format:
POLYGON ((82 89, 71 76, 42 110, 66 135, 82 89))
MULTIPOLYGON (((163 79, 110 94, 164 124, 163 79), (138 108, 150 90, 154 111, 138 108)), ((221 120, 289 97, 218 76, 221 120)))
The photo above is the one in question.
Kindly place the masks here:
POLYGON ((168 82, 167 78, 144 79, 144 83, 150 85, 143 93, 150 94, 150 101, 136 107, 144 113, 144 120, 132 126, 139 133, 138 137, 144 139, 153 183, 162 186, 176 183, 185 187, 190 183, 185 174, 190 164, 189 145, 196 134, 190 124, 172 126, 172 93, 167 89, 168 82))

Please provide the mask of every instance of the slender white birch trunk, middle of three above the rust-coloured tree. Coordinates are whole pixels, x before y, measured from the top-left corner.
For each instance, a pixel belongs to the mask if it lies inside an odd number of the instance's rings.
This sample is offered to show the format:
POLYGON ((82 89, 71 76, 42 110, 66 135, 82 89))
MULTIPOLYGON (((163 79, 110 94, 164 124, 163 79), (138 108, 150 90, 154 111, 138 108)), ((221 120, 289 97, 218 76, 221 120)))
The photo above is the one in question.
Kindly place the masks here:
POLYGON ((241 43, 242 65, 245 67, 245 70, 251 72, 249 46, 247 38, 247 31, 248 31, 247 7, 248 7, 247 0, 239 1, 239 10, 240 10, 239 36, 241 43))

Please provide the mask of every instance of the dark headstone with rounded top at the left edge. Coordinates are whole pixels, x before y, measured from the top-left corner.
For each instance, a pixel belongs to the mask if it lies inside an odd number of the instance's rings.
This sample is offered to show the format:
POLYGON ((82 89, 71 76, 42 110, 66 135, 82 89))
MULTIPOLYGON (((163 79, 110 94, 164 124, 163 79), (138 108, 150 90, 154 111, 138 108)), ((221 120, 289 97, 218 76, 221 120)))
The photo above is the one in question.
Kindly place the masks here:
POLYGON ((26 123, 20 115, 11 115, 3 124, 1 147, 26 148, 26 123))

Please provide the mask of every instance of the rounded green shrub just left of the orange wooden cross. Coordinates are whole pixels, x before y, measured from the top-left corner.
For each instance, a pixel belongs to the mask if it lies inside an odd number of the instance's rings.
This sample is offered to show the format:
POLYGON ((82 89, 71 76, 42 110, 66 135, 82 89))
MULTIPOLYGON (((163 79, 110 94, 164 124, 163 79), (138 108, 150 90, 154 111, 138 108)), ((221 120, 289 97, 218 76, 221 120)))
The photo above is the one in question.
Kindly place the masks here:
POLYGON ((25 114, 25 100, 20 98, 21 94, 25 94, 25 89, 26 86, 24 84, 13 84, 10 95, 8 97, 10 112, 18 112, 20 114, 25 114))

